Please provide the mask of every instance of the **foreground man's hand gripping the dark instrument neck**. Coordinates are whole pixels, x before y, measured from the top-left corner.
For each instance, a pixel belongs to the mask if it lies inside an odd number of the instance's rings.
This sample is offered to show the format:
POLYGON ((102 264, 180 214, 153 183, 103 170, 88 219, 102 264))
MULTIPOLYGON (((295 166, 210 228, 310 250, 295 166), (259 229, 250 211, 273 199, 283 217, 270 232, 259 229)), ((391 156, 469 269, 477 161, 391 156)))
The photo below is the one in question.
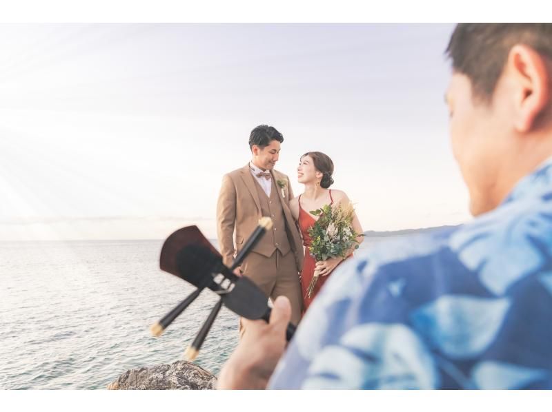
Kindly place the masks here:
POLYGON ((270 322, 242 318, 244 335, 217 382, 217 389, 266 389, 284 349, 291 305, 285 296, 274 301, 270 322))

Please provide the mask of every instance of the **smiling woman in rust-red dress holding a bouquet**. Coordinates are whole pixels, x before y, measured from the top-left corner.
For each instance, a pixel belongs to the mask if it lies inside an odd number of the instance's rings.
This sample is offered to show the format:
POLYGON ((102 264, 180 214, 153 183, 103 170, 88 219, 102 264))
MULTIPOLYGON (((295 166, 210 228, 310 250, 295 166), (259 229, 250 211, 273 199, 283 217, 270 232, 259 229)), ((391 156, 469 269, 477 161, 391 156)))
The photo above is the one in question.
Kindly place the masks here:
MULTIPOLYGON (((324 205, 337 205, 342 203, 344 206, 350 203, 345 192, 341 190, 329 189, 333 184, 333 161, 322 152, 308 152, 301 156, 299 167, 297 167, 297 181, 305 185, 304 192, 293 198, 290 202, 291 214, 299 225, 299 230, 303 237, 305 246, 305 257, 303 261, 303 271, 301 272, 301 290, 304 298, 304 311, 306 311, 316 297, 316 294, 328 279, 333 269, 339 265, 343 258, 331 258, 322 262, 315 262, 311 256, 308 247, 311 245, 311 237, 308 236, 308 229, 312 227, 317 216, 309 212, 320 209, 324 205), (315 269, 319 271, 319 279, 315 285, 313 294, 309 298, 307 288, 313 278, 315 269)), ((362 227, 355 213, 353 216, 353 229, 356 233, 362 234, 362 227)), ((358 236, 358 243, 362 243, 364 236, 358 236)), ((348 256, 352 256, 351 254, 348 256)))

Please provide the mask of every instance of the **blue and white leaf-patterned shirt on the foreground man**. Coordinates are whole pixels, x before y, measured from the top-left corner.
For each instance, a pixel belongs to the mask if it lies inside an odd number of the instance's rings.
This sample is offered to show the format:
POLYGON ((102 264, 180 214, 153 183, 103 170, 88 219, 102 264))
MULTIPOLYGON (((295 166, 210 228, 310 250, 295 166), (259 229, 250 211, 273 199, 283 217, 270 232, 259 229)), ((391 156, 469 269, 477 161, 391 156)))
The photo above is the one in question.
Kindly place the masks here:
POLYGON ((344 262, 271 389, 552 389, 552 158, 497 209, 344 262))

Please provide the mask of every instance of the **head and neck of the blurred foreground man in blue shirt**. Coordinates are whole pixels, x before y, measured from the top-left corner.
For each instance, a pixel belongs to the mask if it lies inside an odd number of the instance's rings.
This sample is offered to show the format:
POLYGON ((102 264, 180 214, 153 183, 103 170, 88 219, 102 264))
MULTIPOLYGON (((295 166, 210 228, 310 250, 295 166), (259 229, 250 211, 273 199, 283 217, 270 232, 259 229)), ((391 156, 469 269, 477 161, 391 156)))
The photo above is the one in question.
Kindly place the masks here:
POLYGON ((461 23, 446 53, 451 143, 478 216, 552 156, 552 23, 461 23))

